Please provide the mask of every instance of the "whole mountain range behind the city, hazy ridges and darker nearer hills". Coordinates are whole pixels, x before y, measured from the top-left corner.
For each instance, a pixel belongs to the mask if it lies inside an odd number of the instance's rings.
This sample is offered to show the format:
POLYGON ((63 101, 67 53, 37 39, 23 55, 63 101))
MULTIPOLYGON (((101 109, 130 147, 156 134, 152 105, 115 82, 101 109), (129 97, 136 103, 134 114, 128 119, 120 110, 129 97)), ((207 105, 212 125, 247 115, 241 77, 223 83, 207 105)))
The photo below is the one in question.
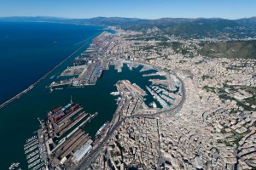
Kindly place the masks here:
MULTIPOLYGON (((255 37, 256 17, 225 20, 220 18, 162 18, 145 20, 123 17, 96 17, 90 19, 65 19, 55 17, 0 17, 0 21, 58 22, 97 26, 119 26, 125 30, 144 31, 158 28, 160 32, 184 38, 203 37, 255 37)), ((155 30, 155 29, 154 29, 155 30)), ((150 31, 149 31, 150 32, 150 31)))

